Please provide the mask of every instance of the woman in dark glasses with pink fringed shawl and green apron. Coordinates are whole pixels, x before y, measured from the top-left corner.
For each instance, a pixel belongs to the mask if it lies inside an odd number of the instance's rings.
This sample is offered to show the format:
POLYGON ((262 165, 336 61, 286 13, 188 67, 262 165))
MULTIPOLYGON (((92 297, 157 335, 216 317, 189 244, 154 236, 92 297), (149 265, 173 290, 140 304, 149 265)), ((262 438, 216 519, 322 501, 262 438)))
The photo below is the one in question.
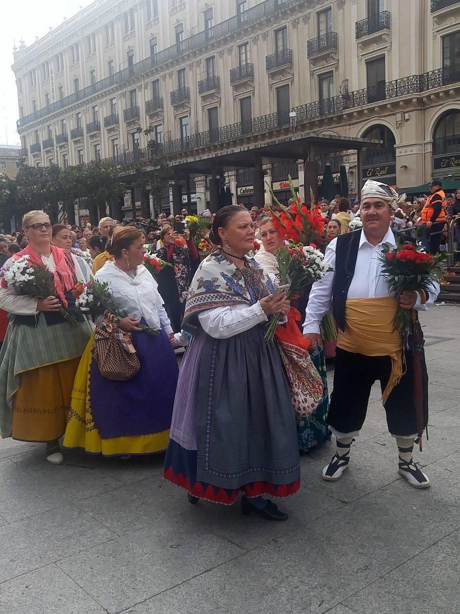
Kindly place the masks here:
POLYGON ((10 314, 0 351, 0 431, 3 438, 43 441, 47 461, 58 465, 63 462, 59 438, 66 430, 75 373, 91 336, 72 295, 77 281, 85 279, 74 255, 51 244, 52 223, 44 211, 26 213, 23 229, 28 246, 4 268, 28 255, 31 264, 48 268, 55 293, 37 299, 13 286, 0 287, 0 308, 10 314), (64 320, 60 306, 74 312, 78 326, 64 320))

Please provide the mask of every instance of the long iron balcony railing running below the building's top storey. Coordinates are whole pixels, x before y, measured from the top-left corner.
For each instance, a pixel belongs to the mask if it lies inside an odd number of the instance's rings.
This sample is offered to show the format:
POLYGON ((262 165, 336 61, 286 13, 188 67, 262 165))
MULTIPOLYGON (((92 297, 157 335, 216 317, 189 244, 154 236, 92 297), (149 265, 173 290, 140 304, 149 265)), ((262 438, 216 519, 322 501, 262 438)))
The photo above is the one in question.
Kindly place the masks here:
MULTIPOLYGON (((260 2, 259 4, 256 4, 256 6, 245 10, 240 15, 235 15, 226 21, 217 23, 215 26, 212 26, 203 32, 199 32, 193 36, 190 36, 189 38, 184 39, 180 45, 171 45, 171 47, 167 47, 167 49, 163 49, 154 55, 148 56, 148 58, 145 58, 132 66, 127 66, 123 70, 115 72, 115 74, 110 75, 110 77, 105 77, 105 79, 88 85, 88 87, 85 87, 82 90, 75 91, 73 94, 65 96, 65 98, 61 100, 56 100, 54 103, 49 104, 43 109, 38 109, 38 111, 35 111, 34 113, 21 117, 21 119, 19 119, 17 122, 18 128, 23 128, 23 126, 26 126, 29 123, 36 122, 36 120, 39 120, 46 115, 59 111, 59 109, 64 109, 64 107, 75 104, 95 93, 123 84, 133 76, 139 76, 145 72, 151 71, 152 69, 161 68, 161 66, 175 60, 176 58, 180 58, 194 50, 207 47, 210 41, 215 41, 223 36, 236 33, 242 28, 247 28, 247 26, 251 25, 251 23, 256 23, 256 21, 270 17, 271 15, 274 15, 282 10, 286 10, 290 4, 294 4, 298 1, 299 0, 265 0, 264 2, 260 2)), ((33 48, 34 47, 31 47, 29 49, 33 48)))

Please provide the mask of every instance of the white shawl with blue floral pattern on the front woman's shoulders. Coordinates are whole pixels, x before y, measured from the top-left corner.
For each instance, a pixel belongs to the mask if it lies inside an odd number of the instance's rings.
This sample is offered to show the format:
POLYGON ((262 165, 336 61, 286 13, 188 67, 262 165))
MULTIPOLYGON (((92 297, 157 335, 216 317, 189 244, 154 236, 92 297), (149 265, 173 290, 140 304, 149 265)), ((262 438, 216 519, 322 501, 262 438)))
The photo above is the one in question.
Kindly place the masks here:
POLYGON ((197 314, 228 305, 254 305, 274 292, 269 276, 254 258, 239 267, 217 249, 207 256, 196 271, 190 289, 183 324, 195 325, 197 314))

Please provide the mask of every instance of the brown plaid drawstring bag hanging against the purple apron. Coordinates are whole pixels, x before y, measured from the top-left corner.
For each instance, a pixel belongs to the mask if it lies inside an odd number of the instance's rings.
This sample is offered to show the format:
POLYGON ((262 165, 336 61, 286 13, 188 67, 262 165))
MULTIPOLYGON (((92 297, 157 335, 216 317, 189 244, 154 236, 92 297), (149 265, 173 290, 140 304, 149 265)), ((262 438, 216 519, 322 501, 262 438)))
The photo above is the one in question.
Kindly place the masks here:
POLYGON ((102 377, 115 381, 131 379, 140 370, 131 333, 122 330, 118 318, 108 312, 94 331, 93 360, 96 360, 102 377))

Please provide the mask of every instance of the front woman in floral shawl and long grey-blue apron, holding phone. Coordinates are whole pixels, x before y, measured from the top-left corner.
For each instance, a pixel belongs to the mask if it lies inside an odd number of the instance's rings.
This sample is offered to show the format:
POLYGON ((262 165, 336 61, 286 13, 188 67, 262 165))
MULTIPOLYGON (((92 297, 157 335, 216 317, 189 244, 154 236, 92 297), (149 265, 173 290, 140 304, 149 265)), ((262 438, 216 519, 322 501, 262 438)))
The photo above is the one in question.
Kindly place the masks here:
POLYGON ((246 254, 254 247, 251 217, 220 209, 210 239, 218 249, 197 270, 184 327, 193 339, 180 371, 164 478, 191 503, 230 505, 243 491, 244 514, 286 520, 262 495, 287 497, 300 485, 296 421, 277 343, 264 340, 285 293, 246 254))

